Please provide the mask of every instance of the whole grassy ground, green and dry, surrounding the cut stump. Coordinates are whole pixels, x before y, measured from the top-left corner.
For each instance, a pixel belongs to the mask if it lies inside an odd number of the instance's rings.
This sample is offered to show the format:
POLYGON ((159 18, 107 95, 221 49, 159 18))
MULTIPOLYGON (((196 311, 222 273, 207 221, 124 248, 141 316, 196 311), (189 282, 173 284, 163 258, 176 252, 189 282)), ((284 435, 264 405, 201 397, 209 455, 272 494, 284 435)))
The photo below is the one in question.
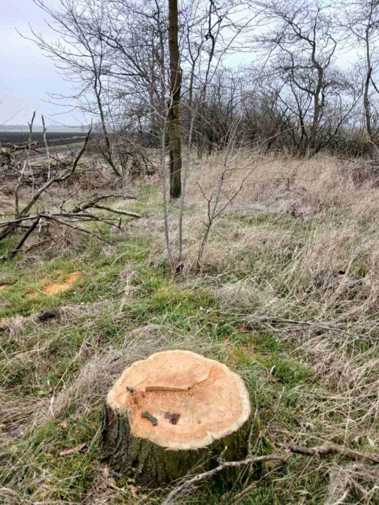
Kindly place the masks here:
MULTIPOLYGON (((0 334, 0 500, 159 503, 110 473, 100 433, 105 394, 125 366, 169 348, 201 352, 241 374, 255 455, 326 440, 379 452, 379 189, 358 187, 326 157, 257 163, 215 222, 199 272, 207 210, 199 184, 212 190, 219 161, 200 162, 189 177, 178 274, 166 260, 152 179, 134 183, 135 203, 115 205, 143 219, 97 229, 112 244, 73 234, 1 265, 8 329, 0 334), (60 318, 35 321, 51 307, 60 318), (86 451, 59 456, 83 443, 86 451)), ((235 168, 228 191, 250 162, 235 168)), ((178 205, 169 210, 175 249, 178 205)), ((0 243, 0 254, 16 241, 0 243)), ((222 494, 195 489, 177 503, 379 503, 379 470, 369 462, 294 455, 258 473, 249 480, 243 472, 222 494)))

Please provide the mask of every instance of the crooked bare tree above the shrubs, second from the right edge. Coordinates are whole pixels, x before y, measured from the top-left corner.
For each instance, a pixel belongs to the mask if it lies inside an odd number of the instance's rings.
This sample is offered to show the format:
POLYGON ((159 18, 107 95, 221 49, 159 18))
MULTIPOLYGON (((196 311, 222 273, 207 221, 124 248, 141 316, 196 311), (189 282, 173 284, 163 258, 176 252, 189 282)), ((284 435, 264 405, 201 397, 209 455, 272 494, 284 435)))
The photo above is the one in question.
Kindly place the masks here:
POLYGON ((263 45, 275 44, 277 68, 287 75, 297 102, 303 138, 310 152, 317 150, 317 134, 325 107, 328 70, 333 65, 337 38, 331 19, 318 5, 307 0, 277 4, 272 0, 259 3, 264 15, 277 26, 257 38, 263 45), (305 93, 308 105, 304 110, 305 93), (303 105, 301 105, 303 102, 303 105), (306 128, 309 123, 309 128, 306 128), (308 130, 306 132, 306 129, 308 130))

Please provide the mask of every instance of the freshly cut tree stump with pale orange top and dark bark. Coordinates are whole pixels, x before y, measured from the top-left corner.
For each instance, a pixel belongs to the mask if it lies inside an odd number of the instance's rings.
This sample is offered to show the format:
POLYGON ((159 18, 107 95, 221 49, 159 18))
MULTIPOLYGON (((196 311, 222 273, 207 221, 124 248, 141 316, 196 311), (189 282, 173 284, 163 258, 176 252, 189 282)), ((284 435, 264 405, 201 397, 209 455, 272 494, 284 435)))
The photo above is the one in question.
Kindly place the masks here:
MULTIPOLYGON (((225 365, 195 352, 157 352, 126 368, 107 396, 103 446, 110 467, 157 488, 218 458, 246 456, 249 393, 225 365)), ((233 481, 227 470, 224 483, 233 481)))

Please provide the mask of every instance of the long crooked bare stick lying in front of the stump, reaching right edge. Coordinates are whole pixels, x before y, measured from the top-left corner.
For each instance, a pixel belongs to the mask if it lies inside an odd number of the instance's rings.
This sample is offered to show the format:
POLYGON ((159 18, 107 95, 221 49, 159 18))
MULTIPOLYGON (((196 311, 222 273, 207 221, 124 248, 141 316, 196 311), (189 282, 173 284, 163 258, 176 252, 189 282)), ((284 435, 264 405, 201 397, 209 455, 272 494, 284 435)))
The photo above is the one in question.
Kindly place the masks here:
POLYGON ((324 442, 322 445, 319 445, 317 447, 304 447, 302 445, 293 445, 290 447, 290 449, 286 452, 283 452, 282 454, 268 454, 265 456, 256 456, 253 458, 247 458, 246 460, 242 461, 225 461, 223 463, 220 463, 218 467, 214 468, 213 470, 209 470, 208 472, 203 472, 201 474, 195 475, 195 477, 192 477, 191 479, 187 479, 184 482, 182 482, 178 487, 175 487, 168 495, 167 498, 162 502, 161 505, 169 505, 169 503, 172 502, 172 500, 180 494, 182 491, 187 489, 188 487, 191 487, 192 485, 196 484, 197 482, 200 482, 201 480, 207 479, 208 477, 211 477, 212 475, 217 474, 218 472, 221 472, 221 470, 229 467, 243 467, 247 465, 251 465, 254 463, 259 463, 261 461, 281 461, 281 462, 286 462, 290 456, 291 452, 293 453, 298 453, 302 454, 304 456, 326 456, 328 454, 339 454, 341 456, 345 456, 346 458, 351 458, 353 460, 369 460, 374 463, 379 463, 379 456, 376 455, 368 455, 365 454, 364 452, 359 452, 357 450, 353 449, 348 449, 346 447, 343 447, 342 445, 337 445, 331 442, 324 442))

